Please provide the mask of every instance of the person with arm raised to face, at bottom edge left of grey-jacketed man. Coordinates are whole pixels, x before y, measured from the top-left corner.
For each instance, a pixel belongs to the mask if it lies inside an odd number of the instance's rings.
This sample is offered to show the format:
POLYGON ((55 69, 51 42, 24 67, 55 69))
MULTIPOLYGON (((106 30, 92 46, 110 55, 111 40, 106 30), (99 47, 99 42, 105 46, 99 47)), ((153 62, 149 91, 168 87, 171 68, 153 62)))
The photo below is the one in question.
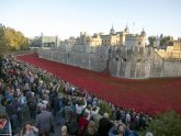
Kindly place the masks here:
POLYGON ((36 133, 38 133, 38 128, 31 125, 31 123, 26 123, 21 131, 20 136, 36 136, 36 133))

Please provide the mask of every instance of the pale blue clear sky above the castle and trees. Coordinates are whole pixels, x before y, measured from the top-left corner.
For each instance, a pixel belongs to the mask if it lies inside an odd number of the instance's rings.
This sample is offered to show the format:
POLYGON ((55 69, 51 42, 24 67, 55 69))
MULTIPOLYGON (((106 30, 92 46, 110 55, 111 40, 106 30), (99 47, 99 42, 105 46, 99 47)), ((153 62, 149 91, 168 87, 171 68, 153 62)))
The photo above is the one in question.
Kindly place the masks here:
POLYGON ((0 0, 0 23, 26 37, 144 30, 181 37, 181 0, 0 0))

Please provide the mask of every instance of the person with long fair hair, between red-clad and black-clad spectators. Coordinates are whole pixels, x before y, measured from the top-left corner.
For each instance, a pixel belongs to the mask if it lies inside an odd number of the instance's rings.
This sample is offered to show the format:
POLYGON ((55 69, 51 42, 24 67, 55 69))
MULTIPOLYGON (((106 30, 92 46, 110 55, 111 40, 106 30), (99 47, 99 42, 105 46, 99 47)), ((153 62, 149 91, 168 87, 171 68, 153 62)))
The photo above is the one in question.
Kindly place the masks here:
POLYGON ((95 123, 93 121, 89 122, 88 128, 83 133, 83 136, 99 136, 95 128, 95 123))

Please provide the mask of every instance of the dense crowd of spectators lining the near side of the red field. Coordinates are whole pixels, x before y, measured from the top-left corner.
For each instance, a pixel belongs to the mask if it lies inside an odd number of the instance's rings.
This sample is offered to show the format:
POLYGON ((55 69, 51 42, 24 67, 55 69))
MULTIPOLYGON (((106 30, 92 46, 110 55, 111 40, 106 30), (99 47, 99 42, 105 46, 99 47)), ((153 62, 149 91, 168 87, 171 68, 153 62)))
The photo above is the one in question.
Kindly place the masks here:
MULTIPOLYGON (((137 132, 151 120, 109 102, 112 113, 97 117, 103 100, 11 55, 1 59, 0 91, 7 112, 0 121, 9 118, 13 135, 49 136, 57 125, 60 136, 138 136, 137 132), (24 123, 29 113, 33 124, 24 123), (16 131, 18 126, 21 131, 16 131)), ((2 128, 0 133, 5 134, 2 128)))

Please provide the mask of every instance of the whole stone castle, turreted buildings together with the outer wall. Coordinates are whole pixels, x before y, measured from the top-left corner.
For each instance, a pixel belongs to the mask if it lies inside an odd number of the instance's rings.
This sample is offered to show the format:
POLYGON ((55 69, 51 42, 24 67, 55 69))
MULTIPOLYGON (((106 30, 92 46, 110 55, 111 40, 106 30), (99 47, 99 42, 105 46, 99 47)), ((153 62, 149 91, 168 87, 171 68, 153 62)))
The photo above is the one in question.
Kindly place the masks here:
MULTIPOLYGON (((78 37, 60 41, 55 48, 39 48, 41 58, 98 71, 117 78, 146 79, 181 76, 181 39, 170 39, 165 49, 157 37, 154 47, 147 45, 146 32, 132 34, 126 26, 122 32, 81 32, 78 37)), ((45 43, 44 43, 45 44, 45 43)))

